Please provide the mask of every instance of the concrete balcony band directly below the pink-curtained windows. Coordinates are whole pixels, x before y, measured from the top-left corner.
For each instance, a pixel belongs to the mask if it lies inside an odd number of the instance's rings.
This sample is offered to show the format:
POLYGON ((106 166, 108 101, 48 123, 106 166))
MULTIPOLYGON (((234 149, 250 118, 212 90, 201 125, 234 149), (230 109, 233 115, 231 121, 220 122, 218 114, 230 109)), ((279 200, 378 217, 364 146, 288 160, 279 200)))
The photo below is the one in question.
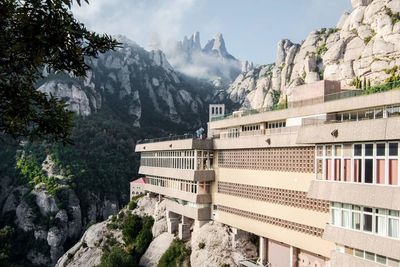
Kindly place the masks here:
POLYGON ((314 180, 309 198, 361 206, 400 210, 400 187, 314 180))

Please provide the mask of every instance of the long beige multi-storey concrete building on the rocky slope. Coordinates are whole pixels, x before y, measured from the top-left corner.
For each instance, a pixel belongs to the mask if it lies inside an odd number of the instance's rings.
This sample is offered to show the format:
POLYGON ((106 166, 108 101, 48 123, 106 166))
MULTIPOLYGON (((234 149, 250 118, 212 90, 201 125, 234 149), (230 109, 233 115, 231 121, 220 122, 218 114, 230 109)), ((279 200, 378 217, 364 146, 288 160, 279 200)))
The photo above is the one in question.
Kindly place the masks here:
POLYGON ((336 85, 278 108, 212 105, 208 139, 138 144, 169 231, 224 223, 260 236, 274 267, 400 266, 400 90, 336 85))

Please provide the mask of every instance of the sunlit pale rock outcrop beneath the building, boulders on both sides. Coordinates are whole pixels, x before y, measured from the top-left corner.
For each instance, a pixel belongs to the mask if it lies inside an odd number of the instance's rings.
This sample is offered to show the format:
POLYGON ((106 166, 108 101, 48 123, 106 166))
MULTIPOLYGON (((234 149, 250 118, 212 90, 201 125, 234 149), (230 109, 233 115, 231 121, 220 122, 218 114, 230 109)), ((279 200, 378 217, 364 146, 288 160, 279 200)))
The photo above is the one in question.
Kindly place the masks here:
MULTIPOLYGON (((152 227, 154 239, 141 257, 140 266, 157 266, 175 237, 167 233, 165 201, 159 202, 158 198, 147 196, 138 201, 136 209, 130 211, 124 208, 117 216, 114 216, 114 219, 110 218, 91 226, 81 240, 58 260, 56 266, 99 265, 104 253, 110 250, 110 240, 114 240, 114 244, 126 248, 121 229, 110 227, 113 220, 115 221, 115 218, 120 217, 122 213, 125 217, 127 213, 132 213, 154 218, 152 227)), ((193 267, 218 267, 224 264, 238 266, 239 260, 257 256, 257 248, 250 242, 249 235, 243 234, 234 240, 232 230, 228 226, 216 222, 210 222, 200 229, 193 229, 192 238, 186 242, 186 246, 191 251, 190 266, 193 267)))

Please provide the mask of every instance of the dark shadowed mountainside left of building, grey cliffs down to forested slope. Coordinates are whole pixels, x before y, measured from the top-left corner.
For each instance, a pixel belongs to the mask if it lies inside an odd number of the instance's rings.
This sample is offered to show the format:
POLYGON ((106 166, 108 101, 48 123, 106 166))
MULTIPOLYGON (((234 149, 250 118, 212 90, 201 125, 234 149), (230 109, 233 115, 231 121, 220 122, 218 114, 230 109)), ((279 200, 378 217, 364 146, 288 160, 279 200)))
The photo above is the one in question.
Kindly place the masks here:
POLYGON ((84 79, 44 70, 37 83, 76 113, 73 145, 0 136, 0 265, 54 266, 127 203, 139 139, 205 127, 213 87, 176 72, 162 51, 117 38, 120 48, 87 60, 84 79))

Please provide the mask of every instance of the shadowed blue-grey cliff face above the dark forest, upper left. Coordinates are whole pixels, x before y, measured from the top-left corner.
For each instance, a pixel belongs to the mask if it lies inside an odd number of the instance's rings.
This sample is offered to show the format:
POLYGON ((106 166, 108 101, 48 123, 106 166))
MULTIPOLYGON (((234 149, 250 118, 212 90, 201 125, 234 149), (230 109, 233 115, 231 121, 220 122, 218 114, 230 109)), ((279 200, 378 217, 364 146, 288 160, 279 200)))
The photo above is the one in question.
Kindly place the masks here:
MULTIPOLYGON (((118 107, 134 127, 159 127, 160 122, 198 127, 197 114, 205 114, 207 106, 204 97, 173 69, 164 53, 148 52, 123 36, 116 39, 123 43, 121 48, 87 60, 91 70, 85 79, 49 74, 39 90, 64 99, 81 116, 104 106, 118 107)), ((211 95, 211 85, 207 90, 211 95)))

